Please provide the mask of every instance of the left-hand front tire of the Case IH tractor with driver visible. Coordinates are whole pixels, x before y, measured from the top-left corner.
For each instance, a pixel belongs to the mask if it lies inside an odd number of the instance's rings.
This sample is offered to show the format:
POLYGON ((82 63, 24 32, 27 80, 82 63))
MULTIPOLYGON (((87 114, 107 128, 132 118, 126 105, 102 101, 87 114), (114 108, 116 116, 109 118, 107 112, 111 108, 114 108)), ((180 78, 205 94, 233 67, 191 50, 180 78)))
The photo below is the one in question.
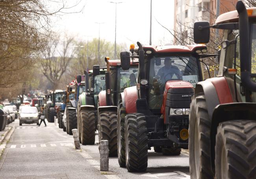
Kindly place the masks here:
POLYGON ((127 114, 125 155, 128 172, 145 172, 148 166, 148 132, 144 114, 127 114))

